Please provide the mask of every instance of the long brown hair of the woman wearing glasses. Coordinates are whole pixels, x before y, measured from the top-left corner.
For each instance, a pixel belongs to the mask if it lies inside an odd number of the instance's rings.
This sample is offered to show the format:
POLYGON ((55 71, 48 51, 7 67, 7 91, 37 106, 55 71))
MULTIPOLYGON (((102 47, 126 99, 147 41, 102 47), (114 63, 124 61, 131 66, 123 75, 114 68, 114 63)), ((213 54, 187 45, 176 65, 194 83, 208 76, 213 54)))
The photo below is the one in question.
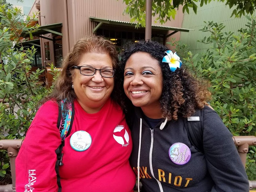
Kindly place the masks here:
MULTIPOLYGON (((72 77, 74 76, 73 66, 80 62, 83 53, 88 52, 109 54, 109 56, 112 58, 113 69, 117 68, 118 55, 116 53, 116 48, 111 41, 108 41, 101 36, 89 36, 81 38, 76 42, 69 54, 66 56, 65 60, 62 62, 61 73, 54 83, 53 92, 49 96, 43 98, 39 104, 43 104, 47 100, 59 101, 65 98, 67 101, 72 102, 76 98, 74 89, 71 88, 72 77)), ((114 97, 114 100, 118 98, 116 92, 119 91, 115 90, 114 88, 111 95, 114 97)))

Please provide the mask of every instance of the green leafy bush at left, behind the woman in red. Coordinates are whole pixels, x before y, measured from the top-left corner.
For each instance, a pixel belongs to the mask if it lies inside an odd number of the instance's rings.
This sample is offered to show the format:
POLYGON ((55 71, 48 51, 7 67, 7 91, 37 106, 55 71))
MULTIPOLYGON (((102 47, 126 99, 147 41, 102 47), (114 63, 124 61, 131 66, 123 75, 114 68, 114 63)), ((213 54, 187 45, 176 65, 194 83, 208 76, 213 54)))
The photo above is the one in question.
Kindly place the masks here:
MULTIPOLYGON (((5 64, 0 62, 0 139, 22 139, 35 116, 37 102, 49 92, 38 84, 44 70, 30 71, 37 50, 34 46, 24 48, 20 38, 21 33, 38 29, 32 24, 36 15, 24 18, 20 9, 0 0, 0 61, 5 60, 5 64)), ((10 175, 6 151, 0 150, 0 161, 0 178, 10 175)))

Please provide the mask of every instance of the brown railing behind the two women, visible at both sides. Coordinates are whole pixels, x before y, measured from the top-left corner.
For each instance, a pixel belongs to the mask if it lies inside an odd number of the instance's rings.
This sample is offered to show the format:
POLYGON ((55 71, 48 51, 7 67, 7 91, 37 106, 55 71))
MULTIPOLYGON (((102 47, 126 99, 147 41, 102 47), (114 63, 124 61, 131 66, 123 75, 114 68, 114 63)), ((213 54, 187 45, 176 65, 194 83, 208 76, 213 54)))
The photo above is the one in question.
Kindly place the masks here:
MULTIPOLYGON (((249 146, 256 146, 255 136, 234 136, 234 143, 237 146, 238 153, 245 167, 246 153, 249 151, 249 146)), ((18 155, 18 151, 22 145, 23 139, 2 139, 0 140, 0 149, 6 150, 10 158, 10 168, 12 175, 12 184, 0 186, 0 192, 16 192, 15 190, 15 159, 18 155)), ((256 181, 249 181, 250 192, 256 192, 252 190, 256 188, 256 181)))

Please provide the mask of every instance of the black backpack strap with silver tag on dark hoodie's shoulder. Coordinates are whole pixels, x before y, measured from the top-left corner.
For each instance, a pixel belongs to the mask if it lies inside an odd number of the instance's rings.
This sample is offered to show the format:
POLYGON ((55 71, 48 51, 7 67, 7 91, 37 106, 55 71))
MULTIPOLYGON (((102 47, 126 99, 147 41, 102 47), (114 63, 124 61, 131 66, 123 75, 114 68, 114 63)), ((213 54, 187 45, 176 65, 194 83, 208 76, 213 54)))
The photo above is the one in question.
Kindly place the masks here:
POLYGON ((184 119, 184 125, 190 143, 196 150, 203 153, 203 112, 196 110, 195 114, 184 119))

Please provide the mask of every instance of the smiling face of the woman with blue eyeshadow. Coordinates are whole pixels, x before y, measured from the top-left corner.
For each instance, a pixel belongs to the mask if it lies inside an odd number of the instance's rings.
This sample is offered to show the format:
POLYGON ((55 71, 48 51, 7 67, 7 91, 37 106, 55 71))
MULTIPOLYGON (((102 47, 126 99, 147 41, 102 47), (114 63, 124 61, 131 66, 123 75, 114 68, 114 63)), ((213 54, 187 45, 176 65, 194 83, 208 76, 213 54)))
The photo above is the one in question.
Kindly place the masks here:
POLYGON ((160 107, 163 75, 158 61, 146 52, 133 53, 124 68, 124 92, 136 107, 160 107))

